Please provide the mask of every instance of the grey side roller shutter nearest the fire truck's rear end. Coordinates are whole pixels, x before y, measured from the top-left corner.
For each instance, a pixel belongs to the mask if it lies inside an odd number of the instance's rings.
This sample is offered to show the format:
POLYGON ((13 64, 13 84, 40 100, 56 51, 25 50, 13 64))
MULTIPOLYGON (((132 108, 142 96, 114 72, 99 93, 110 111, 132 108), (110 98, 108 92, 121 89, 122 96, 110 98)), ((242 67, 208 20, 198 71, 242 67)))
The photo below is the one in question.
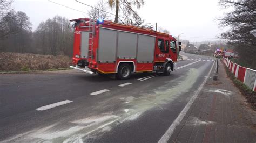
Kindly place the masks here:
POLYGON ((117 31, 100 28, 98 61, 116 61, 117 31))

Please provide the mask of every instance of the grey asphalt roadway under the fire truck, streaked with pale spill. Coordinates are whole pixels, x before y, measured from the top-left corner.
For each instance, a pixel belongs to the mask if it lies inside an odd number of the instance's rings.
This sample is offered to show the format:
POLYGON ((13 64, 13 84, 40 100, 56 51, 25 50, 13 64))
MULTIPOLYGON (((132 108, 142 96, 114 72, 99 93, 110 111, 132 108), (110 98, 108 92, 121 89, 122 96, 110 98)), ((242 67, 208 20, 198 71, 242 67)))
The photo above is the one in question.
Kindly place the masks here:
POLYGON ((158 142, 213 65, 212 57, 182 54, 188 60, 170 76, 0 75, 0 141, 158 142), (47 109, 62 101, 69 103, 47 109))

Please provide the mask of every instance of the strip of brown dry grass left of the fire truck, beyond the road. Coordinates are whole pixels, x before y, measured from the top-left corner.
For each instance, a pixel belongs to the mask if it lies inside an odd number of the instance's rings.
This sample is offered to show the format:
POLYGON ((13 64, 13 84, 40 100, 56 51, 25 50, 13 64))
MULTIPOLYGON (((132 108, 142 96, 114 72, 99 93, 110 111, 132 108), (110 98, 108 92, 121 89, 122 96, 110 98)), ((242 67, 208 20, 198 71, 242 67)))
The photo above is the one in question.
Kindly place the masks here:
POLYGON ((0 71, 30 71, 68 68, 72 65, 68 56, 39 55, 29 53, 0 52, 0 71))

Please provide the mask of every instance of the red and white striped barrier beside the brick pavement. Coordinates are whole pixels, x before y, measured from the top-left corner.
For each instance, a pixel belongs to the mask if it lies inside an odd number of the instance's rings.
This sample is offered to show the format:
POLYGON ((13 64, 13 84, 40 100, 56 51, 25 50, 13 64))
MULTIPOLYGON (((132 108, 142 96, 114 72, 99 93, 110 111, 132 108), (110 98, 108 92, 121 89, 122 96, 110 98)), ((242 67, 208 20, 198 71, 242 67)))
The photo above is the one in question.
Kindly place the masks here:
POLYGON ((225 65, 234 74, 234 76, 243 82, 247 87, 256 91, 256 70, 242 67, 236 63, 231 62, 227 58, 223 58, 225 65))

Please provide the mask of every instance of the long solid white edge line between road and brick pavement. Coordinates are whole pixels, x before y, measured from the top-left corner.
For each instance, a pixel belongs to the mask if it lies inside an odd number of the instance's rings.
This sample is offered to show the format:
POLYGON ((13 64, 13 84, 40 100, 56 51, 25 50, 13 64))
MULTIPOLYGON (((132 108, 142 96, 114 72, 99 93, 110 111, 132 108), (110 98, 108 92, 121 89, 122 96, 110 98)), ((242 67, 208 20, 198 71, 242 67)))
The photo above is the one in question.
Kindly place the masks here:
POLYGON ((190 99, 190 101, 187 103, 187 105, 185 106, 185 108, 179 113, 179 116, 173 121, 172 125, 168 128, 168 130, 164 133, 164 135, 161 137, 161 139, 158 141, 159 143, 161 142, 167 142, 170 137, 172 136, 173 131, 175 130, 175 128, 180 124, 181 120, 184 118, 184 116, 186 115, 188 109, 190 109, 190 106, 193 104, 194 100, 197 98, 199 92, 203 89, 204 84, 206 83, 208 77, 211 74, 212 68, 214 66, 214 63, 212 64, 212 67, 208 73, 208 75, 206 76, 205 80, 203 81, 203 83, 200 85, 200 87, 197 89, 197 91, 194 93, 194 95, 192 96, 192 98, 190 99))

